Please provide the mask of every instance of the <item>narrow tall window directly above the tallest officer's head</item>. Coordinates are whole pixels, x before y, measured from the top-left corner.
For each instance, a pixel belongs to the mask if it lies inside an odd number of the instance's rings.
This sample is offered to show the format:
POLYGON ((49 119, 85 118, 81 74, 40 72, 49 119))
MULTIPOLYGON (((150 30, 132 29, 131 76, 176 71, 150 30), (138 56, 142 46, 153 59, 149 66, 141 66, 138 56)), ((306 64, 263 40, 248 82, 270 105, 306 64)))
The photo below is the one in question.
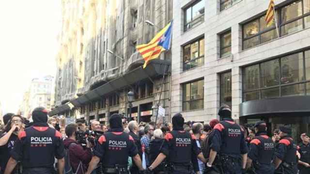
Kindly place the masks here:
POLYGON ((220 74, 220 105, 232 107, 232 72, 220 74))

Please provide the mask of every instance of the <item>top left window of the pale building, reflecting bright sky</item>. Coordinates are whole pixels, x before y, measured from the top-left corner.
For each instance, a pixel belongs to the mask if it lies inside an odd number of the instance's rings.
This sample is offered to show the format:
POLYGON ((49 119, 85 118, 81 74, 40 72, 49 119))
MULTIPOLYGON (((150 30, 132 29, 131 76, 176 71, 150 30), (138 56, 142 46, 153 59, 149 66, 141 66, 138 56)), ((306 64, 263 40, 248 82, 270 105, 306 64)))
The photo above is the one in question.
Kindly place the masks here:
POLYGON ((184 31, 198 26, 204 21, 204 0, 193 3, 184 10, 184 31))

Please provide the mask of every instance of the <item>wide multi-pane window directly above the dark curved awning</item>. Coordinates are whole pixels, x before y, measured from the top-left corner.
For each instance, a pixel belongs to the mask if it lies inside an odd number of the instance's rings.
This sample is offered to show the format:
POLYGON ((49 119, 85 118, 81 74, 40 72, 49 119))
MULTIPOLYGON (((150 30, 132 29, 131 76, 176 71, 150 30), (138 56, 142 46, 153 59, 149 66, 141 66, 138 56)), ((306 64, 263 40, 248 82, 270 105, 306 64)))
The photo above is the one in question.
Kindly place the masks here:
POLYGON ((243 101, 310 95, 309 54, 307 50, 245 67, 243 101))

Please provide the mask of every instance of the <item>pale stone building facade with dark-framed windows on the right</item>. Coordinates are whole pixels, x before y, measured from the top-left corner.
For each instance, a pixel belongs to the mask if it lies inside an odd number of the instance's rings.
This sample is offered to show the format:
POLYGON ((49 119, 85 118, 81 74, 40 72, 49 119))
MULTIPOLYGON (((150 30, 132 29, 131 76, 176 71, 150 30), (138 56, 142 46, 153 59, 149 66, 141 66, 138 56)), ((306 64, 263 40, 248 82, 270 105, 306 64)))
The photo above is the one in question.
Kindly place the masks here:
POLYGON ((241 123, 309 131, 310 0, 275 0, 279 36, 269 1, 174 1, 171 114, 208 122, 226 103, 241 123))

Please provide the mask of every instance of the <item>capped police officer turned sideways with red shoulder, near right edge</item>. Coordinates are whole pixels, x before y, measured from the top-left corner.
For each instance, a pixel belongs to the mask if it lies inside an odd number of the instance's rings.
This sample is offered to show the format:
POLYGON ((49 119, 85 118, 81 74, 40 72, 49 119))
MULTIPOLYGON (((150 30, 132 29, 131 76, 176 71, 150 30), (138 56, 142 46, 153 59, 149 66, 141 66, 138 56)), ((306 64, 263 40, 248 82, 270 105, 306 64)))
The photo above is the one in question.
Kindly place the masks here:
POLYGON ((275 174, 297 174, 297 145, 291 137, 292 130, 289 127, 279 128, 280 141, 276 146, 275 174))

